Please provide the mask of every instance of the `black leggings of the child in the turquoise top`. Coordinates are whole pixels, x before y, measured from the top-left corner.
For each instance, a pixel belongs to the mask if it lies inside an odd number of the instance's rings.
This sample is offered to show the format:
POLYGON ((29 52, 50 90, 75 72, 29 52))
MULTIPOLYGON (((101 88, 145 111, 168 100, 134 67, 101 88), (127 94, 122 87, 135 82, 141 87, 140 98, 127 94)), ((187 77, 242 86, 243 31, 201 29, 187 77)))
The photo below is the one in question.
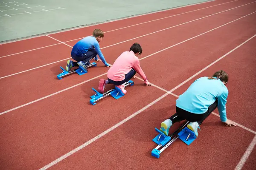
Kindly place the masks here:
POLYGON ((218 100, 212 103, 212 105, 209 106, 207 112, 203 114, 190 113, 188 111, 184 111, 183 109, 176 107, 176 113, 172 115, 169 119, 172 120, 173 124, 175 122, 187 120, 189 122, 198 122, 198 124, 201 125, 204 119, 206 119, 217 107, 218 100))

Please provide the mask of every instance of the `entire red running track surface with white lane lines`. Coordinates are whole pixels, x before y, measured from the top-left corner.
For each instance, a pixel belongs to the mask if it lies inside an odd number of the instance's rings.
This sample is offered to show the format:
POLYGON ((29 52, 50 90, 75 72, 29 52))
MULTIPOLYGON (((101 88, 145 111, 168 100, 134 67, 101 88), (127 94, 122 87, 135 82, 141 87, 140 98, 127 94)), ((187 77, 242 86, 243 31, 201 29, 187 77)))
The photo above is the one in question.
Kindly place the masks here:
POLYGON ((47 36, 0 45, 1 169, 40 169, 47 164, 49 169, 61 170, 255 168, 256 3, 230 1, 217 0, 49 35, 67 45, 47 36), (168 17, 172 15, 176 16, 168 17), (157 20, 163 17, 168 18, 157 20), (141 66, 155 87, 145 87, 134 79, 135 85, 128 87, 121 99, 108 97, 92 106, 91 88, 97 88, 108 71, 102 62, 83 76, 56 79, 59 67, 70 57, 68 45, 73 46, 78 41, 74 39, 90 35, 95 28, 106 31, 100 45, 110 64, 132 43, 139 42, 143 47, 141 66), (172 94, 161 97, 166 91, 160 88, 177 88, 172 92, 179 95, 196 78, 220 69, 230 75, 227 116, 239 126, 225 127, 212 114, 191 145, 176 140, 160 159, 152 157, 156 144, 151 140, 157 135, 154 127, 175 113, 177 99, 172 94), (119 123, 134 113, 139 114, 119 123), (116 124, 119 126, 111 128, 116 124), (111 131, 102 135, 109 128, 111 131), (102 137, 94 139, 96 136, 102 137), (79 147, 82 144, 86 146, 79 147), (67 154, 74 149, 77 152, 67 154), (64 155, 68 157, 61 158, 64 155))

